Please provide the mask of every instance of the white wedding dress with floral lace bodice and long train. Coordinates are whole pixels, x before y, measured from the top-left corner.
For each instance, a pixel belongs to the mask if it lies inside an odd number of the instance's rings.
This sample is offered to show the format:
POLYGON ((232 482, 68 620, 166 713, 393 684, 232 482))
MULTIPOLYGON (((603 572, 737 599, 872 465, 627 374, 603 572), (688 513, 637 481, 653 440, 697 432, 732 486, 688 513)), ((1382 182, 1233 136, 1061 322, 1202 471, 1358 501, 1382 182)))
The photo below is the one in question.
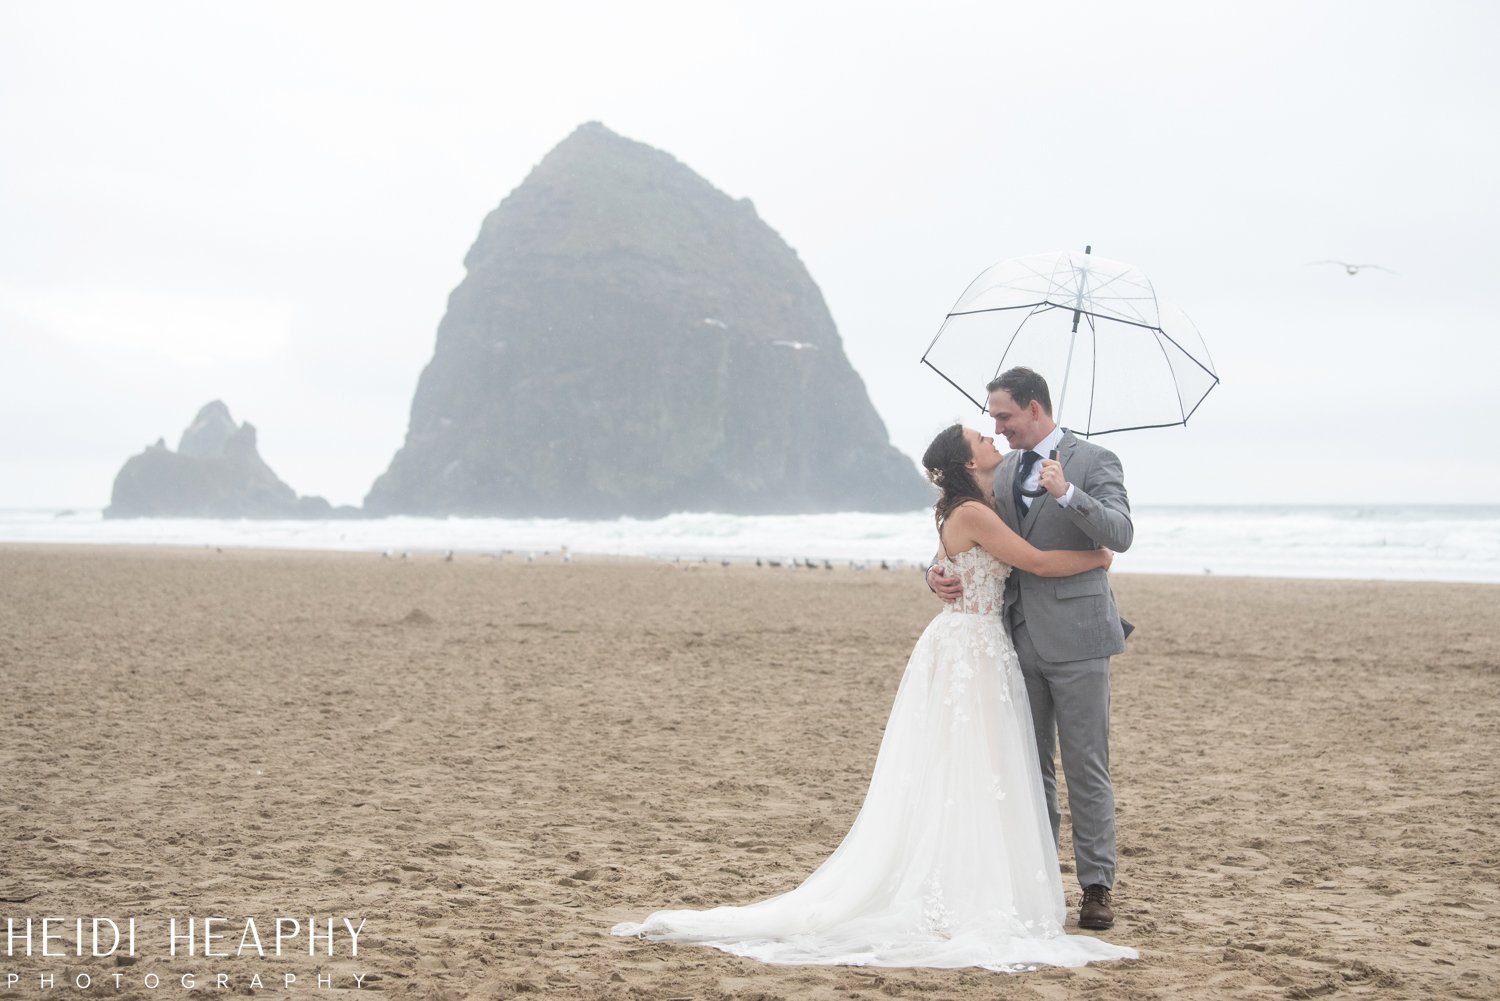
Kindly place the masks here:
POLYGON ((1026 683, 1000 617, 1010 567, 978 546, 945 563, 963 599, 916 641, 870 791, 834 854, 780 896, 656 911, 615 935, 770 963, 1016 972, 1137 957, 1062 930, 1026 683))

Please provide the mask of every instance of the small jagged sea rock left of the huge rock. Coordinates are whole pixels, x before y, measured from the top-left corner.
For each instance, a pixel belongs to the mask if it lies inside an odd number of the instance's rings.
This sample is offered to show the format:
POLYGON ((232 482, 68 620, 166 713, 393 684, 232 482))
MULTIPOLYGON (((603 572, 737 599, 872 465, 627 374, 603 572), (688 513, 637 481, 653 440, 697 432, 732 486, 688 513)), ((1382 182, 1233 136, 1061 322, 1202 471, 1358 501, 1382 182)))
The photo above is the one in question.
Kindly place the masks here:
POLYGON ((114 477, 105 518, 328 518, 321 497, 297 497, 255 447, 255 428, 236 425, 230 408, 213 401, 183 431, 177 452, 164 440, 130 456, 114 477))

